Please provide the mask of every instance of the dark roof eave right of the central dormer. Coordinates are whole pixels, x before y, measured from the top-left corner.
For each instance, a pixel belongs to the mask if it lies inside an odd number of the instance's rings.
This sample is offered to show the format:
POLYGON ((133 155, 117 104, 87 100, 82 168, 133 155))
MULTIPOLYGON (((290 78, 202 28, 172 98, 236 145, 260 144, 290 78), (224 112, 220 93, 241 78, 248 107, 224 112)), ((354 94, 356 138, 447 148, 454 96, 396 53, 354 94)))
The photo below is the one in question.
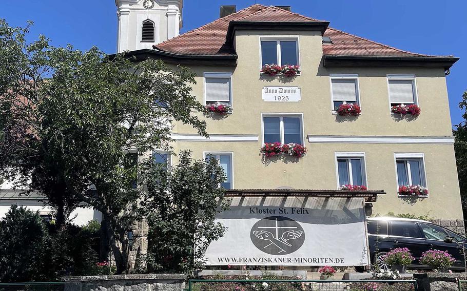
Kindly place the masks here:
POLYGON ((324 67, 442 67, 448 70, 458 60, 453 56, 323 55, 324 67))

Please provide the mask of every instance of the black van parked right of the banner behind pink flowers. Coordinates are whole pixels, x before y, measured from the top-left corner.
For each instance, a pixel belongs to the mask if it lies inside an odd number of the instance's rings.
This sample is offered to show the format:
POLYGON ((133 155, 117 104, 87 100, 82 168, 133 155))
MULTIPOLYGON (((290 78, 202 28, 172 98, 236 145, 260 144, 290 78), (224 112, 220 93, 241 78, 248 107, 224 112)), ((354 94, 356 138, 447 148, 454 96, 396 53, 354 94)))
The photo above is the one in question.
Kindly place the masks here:
POLYGON ((383 255, 393 248, 406 247, 415 258, 408 268, 427 269, 428 266, 419 262, 422 253, 428 250, 440 250, 447 251, 456 259, 450 269, 465 272, 464 254, 467 239, 463 236, 429 221, 415 219, 367 218, 367 225, 371 262, 380 268, 389 268, 381 259, 383 255))

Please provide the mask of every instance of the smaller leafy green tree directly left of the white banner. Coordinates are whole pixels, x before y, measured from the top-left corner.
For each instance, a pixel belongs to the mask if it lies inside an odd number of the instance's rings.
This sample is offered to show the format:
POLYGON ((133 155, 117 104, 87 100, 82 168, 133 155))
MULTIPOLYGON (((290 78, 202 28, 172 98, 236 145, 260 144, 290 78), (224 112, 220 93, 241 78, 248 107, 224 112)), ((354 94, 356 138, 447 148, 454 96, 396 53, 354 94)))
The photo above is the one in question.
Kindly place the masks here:
POLYGON ((212 241, 225 226, 216 214, 227 209, 221 182, 225 174, 215 158, 192 160, 182 152, 175 167, 148 161, 147 192, 141 204, 149 224, 147 268, 150 272, 192 274, 203 265, 212 241))

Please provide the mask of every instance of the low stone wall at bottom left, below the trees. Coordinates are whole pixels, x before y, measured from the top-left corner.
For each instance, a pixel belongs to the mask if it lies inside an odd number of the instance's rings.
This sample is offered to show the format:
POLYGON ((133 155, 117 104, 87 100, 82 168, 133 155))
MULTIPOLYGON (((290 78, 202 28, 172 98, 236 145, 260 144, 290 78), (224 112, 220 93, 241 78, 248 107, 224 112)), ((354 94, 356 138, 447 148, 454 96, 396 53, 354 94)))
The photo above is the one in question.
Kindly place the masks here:
POLYGON ((63 277, 64 291, 183 291, 182 274, 63 277))

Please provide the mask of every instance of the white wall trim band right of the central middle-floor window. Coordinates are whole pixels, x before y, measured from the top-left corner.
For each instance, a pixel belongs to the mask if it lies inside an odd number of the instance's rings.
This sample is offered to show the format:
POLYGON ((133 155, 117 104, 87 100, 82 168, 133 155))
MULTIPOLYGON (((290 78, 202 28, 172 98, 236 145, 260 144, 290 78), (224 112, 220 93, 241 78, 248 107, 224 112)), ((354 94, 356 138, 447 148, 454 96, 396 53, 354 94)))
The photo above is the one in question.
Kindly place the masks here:
POLYGON ((452 136, 347 136, 308 135, 311 143, 406 143, 406 144, 454 144, 452 136))

